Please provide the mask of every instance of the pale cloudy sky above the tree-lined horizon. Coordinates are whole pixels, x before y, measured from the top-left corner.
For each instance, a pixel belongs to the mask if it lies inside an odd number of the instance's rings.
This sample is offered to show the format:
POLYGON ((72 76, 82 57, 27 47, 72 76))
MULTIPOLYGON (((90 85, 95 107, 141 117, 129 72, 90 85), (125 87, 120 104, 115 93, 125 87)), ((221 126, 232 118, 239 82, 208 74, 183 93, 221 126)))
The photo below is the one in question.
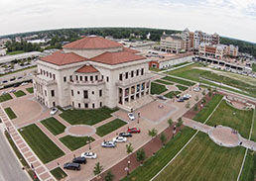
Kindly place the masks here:
POLYGON ((0 7, 0 35, 81 27, 188 27, 256 43, 256 0, 1 0, 0 7))

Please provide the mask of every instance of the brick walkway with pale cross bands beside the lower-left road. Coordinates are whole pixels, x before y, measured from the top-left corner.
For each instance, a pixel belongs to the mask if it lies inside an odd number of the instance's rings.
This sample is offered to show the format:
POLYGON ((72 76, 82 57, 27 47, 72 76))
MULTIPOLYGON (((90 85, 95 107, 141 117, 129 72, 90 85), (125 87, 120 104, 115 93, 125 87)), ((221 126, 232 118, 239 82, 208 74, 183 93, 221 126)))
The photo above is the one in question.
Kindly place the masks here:
POLYGON ((56 181, 55 177, 50 173, 47 167, 41 162, 41 160, 33 152, 33 150, 23 139, 20 133, 16 130, 13 123, 10 121, 5 111, 3 110, 2 105, 0 106, 0 117, 19 151, 28 162, 28 164, 31 165, 32 169, 34 169, 39 179, 44 181, 56 181))

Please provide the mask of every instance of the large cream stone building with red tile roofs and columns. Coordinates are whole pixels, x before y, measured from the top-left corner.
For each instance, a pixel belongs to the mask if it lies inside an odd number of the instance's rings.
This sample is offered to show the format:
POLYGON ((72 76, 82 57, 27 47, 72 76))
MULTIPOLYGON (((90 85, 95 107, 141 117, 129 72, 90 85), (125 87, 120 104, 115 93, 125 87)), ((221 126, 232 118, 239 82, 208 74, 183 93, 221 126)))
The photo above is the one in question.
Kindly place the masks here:
POLYGON ((38 60, 34 95, 47 107, 136 109, 152 100, 149 60, 101 37, 85 37, 38 60))

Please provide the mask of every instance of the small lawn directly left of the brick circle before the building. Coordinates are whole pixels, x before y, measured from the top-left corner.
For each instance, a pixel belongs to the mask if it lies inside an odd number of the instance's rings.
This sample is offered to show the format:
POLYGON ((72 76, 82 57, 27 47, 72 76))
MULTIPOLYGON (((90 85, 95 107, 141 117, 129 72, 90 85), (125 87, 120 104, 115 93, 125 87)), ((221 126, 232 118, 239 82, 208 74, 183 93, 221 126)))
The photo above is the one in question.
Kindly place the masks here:
POLYGON ((54 136, 58 136, 62 133, 64 133, 64 125, 60 123, 57 119, 54 117, 51 117, 49 119, 43 120, 41 122, 54 136))

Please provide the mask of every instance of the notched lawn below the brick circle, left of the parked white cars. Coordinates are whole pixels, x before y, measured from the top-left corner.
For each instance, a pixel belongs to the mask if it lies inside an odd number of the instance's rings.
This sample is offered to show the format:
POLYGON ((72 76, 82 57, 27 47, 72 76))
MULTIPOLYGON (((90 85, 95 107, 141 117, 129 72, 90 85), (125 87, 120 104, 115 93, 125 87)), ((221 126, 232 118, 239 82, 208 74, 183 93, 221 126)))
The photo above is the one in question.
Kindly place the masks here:
MULTIPOLYGON (((81 146, 87 144, 88 136, 64 136, 60 140, 68 147, 71 151, 80 148, 81 146)), ((93 137, 90 137, 90 142, 95 140, 93 137)))

